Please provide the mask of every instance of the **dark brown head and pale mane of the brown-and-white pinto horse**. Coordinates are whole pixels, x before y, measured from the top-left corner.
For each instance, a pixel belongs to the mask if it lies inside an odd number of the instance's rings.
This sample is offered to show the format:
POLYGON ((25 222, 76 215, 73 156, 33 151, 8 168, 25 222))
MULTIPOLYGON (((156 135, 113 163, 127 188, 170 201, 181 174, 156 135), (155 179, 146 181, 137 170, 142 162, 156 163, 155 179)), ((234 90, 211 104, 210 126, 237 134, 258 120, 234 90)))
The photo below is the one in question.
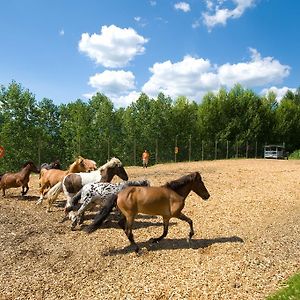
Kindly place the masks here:
POLYGON ((115 175, 119 176, 123 180, 128 180, 128 174, 126 173, 122 162, 113 157, 105 165, 100 167, 101 181, 110 182, 115 175))

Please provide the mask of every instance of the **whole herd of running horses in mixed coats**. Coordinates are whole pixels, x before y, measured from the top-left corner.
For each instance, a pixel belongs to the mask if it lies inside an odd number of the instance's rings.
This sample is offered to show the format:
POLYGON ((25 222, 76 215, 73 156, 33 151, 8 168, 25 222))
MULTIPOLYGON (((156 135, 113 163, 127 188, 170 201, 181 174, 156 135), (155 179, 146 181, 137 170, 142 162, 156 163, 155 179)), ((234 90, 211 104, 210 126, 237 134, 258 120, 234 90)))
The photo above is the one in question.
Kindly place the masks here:
POLYGON ((37 168, 32 161, 26 162, 17 173, 0 175, 0 189, 5 197, 9 188, 22 187, 22 196, 29 190, 30 173, 40 174, 40 197, 37 204, 47 200, 47 211, 51 211, 54 201, 63 192, 66 196, 65 215, 61 222, 70 219, 73 230, 84 221, 84 213, 100 204, 100 210, 93 222, 84 227, 91 233, 101 227, 110 213, 115 210, 119 226, 124 230, 133 250, 138 253, 132 227, 139 214, 160 215, 163 218, 163 233, 152 238, 157 243, 168 234, 169 221, 172 217, 187 222, 190 226, 188 241, 194 235, 192 220, 182 213, 185 199, 194 191, 202 199, 210 197, 199 172, 193 172, 162 186, 150 186, 148 180, 130 181, 122 162, 113 157, 106 164, 97 168, 93 160, 78 157, 67 170, 60 169, 59 161, 43 164, 37 168), (111 183, 114 176, 123 182, 111 183))

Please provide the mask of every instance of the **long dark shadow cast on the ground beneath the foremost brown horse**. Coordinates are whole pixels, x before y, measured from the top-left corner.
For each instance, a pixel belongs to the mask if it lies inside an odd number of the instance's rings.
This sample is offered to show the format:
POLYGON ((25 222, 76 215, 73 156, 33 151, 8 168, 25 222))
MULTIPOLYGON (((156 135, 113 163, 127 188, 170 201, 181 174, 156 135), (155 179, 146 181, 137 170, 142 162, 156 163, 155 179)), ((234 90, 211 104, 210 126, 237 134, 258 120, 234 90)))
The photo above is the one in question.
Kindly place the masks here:
MULTIPOLYGON (((140 242, 138 246, 141 248, 141 253, 143 253, 146 248, 147 252, 150 251, 160 251, 160 250, 178 250, 178 249, 205 249, 214 244, 224 244, 224 243, 244 243, 244 240, 238 236, 231 237, 217 237, 213 239, 192 239, 190 243, 187 239, 164 239, 156 244, 150 244, 148 242, 140 242)), ((103 256, 115 256, 119 254, 128 254, 134 252, 132 247, 126 246, 122 249, 110 248, 102 253, 103 256)))

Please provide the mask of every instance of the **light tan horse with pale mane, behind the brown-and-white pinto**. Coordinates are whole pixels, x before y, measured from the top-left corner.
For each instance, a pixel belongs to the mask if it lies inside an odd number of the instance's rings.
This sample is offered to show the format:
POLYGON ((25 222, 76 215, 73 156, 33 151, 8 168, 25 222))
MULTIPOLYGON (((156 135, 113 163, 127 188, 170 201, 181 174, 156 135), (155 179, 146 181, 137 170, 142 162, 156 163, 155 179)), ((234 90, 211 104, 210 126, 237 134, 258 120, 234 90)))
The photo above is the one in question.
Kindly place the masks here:
POLYGON ((78 158, 69 166, 68 170, 59 169, 42 169, 40 173, 40 198, 37 204, 43 202, 44 196, 48 189, 61 182, 64 177, 70 173, 90 172, 97 169, 97 165, 93 160, 78 156, 78 158))

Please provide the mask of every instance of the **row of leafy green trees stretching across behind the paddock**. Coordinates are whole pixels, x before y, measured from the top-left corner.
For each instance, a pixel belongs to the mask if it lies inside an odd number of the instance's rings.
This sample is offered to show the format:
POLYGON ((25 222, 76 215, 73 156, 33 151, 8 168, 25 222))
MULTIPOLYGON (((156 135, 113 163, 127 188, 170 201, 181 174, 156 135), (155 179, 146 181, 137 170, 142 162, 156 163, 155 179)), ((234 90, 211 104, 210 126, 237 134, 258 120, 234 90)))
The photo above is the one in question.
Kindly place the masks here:
POLYGON ((201 103, 163 93, 149 98, 141 93, 136 102, 116 109, 104 94, 88 101, 78 99, 56 105, 37 101, 16 82, 1 85, 0 173, 20 169, 23 162, 36 164, 59 159, 67 167, 76 156, 99 165, 117 156, 126 165, 140 164, 144 149, 156 162, 199 160, 204 142, 285 143, 288 151, 300 149, 300 88, 288 91, 278 103, 276 95, 261 96, 241 85, 207 93, 201 103))

